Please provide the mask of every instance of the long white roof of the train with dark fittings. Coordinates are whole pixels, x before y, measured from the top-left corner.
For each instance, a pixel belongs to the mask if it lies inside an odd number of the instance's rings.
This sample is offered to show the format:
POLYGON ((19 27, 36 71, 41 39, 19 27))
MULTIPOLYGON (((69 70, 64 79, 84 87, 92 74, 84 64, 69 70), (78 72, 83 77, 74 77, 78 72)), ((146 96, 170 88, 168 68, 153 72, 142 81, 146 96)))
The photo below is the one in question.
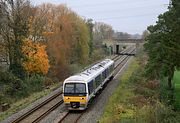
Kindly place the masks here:
POLYGON ((65 80, 65 82, 69 81, 69 82, 88 82, 90 81, 92 78, 96 77, 97 75, 99 75, 100 72, 104 71, 107 67, 109 67, 110 65, 112 65, 114 63, 113 60, 111 59, 105 59, 95 65, 93 65, 92 67, 86 69, 85 71, 77 74, 77 75, 73 75, 70 76, 69 78, 67 78, 65 80))

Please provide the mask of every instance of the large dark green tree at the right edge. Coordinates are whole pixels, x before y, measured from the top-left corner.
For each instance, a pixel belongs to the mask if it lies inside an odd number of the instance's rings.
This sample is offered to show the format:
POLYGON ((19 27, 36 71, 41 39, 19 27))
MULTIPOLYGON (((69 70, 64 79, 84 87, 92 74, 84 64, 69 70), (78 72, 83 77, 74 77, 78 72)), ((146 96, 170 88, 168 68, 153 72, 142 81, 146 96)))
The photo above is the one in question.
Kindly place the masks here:
POLYGON ((172 77, 175 69, 180 68, 180 1, 173 0, 169 11, 160 15, 156 25, 149 26, 145 49, 149 55, 146 66, 151 78, 168 78, 172 88, 172 77))

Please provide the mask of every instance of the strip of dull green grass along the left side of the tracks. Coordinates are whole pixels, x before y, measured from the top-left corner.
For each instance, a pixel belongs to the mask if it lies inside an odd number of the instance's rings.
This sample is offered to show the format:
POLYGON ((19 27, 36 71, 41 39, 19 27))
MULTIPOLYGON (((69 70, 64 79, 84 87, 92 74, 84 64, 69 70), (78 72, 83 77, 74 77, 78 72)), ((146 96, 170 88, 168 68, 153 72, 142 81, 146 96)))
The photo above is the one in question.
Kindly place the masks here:
POLYGON ((60 87, 60 83, 56 83, 56 84, 52 85, 49 89, 45 89, 41 92, 33 93, 29 97, 21 99, 15 103, 13 103, 7 111, 0 113, 0 121, 4 120, 5 118, 9 117, 10 115, 16 113, 17 111, 27 107, 34 101, 48 95, 50 92, 52 92, 52 90, 55 90, 57 87, 60 87))

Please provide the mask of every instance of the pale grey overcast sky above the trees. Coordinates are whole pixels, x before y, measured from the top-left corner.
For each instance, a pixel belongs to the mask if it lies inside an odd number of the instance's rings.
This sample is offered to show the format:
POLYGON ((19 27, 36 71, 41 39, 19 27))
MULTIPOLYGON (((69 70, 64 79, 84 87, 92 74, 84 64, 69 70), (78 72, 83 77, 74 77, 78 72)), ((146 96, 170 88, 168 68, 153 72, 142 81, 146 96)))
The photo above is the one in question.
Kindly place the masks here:
POLYGON ((49 2, 66 4, 83 18, 110 24, 114 30, 139 33, 156 23, 159 14, 167 11, 169 0, 31 0, 39 5, 49 2))

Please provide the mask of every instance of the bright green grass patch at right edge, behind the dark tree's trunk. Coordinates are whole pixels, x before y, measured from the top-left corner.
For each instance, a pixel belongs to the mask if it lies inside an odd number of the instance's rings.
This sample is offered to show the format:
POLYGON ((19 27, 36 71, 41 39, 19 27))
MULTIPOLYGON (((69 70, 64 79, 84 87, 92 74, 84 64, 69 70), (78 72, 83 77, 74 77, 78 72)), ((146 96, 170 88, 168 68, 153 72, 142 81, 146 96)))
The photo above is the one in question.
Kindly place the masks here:
POLYGON ((174 77, 174 97, 175 97, 175 109, 180 110, 180 71, 175 71, 174 77))

